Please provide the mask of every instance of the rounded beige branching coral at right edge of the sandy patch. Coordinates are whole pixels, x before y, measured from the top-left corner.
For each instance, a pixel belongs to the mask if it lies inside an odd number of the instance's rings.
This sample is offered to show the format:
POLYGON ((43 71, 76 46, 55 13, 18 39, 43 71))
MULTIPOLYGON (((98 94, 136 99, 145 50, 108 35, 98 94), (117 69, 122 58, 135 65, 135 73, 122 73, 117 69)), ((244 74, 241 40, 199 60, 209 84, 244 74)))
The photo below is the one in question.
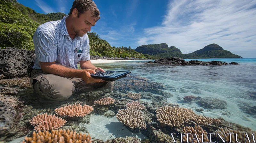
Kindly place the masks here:
POLYGON ((146 129, 145 119, 142 116, 142 113, 140 110, 137 110, 134 108, 120 109, 116 114, 116 118, 120 122, 124 123, 126 126, 132 129, 134 128, 146 129))

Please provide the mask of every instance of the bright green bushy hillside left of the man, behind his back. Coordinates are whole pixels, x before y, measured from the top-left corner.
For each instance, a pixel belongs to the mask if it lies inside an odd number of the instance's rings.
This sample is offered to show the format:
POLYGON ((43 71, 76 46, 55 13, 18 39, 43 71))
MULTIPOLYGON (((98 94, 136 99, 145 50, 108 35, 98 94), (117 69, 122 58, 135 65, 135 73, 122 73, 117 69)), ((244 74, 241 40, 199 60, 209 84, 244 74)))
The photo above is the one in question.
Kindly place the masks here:
POLYGON ((16 2, 0 1, 0 46, 33 50, 33 34, 44 22, 62 19, 64 13, 41 14, 16 2))

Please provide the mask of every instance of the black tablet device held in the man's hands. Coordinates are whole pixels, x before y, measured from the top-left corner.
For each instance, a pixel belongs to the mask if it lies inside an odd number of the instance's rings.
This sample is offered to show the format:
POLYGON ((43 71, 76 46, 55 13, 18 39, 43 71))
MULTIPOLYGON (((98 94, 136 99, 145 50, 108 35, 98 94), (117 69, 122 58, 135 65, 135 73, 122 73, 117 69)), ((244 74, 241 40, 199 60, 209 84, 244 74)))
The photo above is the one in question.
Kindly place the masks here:
POLYGON ((127 74, 131 72, 127 71, 105 71, 105 72, 97 72, 97 73, 92 73, 91 77, 95 79, 102 79, 105 81, 115 81, 117 79, 121 79, 123 77, 126 77, 127 74))

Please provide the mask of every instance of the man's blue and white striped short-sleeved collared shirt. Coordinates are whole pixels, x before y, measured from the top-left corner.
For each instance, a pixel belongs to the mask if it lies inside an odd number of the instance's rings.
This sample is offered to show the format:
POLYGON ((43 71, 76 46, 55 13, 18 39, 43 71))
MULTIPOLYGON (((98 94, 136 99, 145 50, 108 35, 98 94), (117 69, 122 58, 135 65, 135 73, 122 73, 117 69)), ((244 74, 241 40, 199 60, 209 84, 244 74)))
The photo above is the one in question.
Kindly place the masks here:
POLYGON ((58 21, 46 22, 36 29, 33 36, 36 61, 34 69, 41 69, 40 62, 54 62, 56 64, 77 69, 77 63, 90 60, 90 46, 88 35, 76 37, 72 40, 68 35, 65 16, 58 21), (82 53, 74 52, 83 50, 82 53), (80 56, 78 56, 80 54, 80 56))

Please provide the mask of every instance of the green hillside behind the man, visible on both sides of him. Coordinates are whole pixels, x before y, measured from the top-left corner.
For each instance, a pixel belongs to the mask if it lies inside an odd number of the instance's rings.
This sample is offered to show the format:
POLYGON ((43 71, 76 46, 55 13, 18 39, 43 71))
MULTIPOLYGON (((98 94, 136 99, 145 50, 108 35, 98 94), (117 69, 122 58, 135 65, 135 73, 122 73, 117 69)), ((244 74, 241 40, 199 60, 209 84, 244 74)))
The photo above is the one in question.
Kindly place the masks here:
MULTIPOLYGON (((41 14, 16 0, 0 0, 0 47, 34 50, 33 34, 36 28, 48 21, 61 20, 65 15, 61 12, 41 14)), ((87 34, 90 39, 90 54, 93 56, 145 58, 131 47, 110 46, 95 32, 87 34)))

